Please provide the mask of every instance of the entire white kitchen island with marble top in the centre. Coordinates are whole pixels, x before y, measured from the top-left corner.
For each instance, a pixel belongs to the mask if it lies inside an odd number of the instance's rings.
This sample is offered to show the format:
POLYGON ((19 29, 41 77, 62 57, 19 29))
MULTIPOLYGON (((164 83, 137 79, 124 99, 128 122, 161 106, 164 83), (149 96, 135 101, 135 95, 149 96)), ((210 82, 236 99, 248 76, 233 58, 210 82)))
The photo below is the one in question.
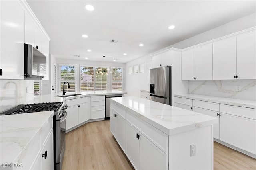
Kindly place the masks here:
POLYGON ((218 119, 134 96, 110 100, 110 130, 135 169, 213 169, 218 119))

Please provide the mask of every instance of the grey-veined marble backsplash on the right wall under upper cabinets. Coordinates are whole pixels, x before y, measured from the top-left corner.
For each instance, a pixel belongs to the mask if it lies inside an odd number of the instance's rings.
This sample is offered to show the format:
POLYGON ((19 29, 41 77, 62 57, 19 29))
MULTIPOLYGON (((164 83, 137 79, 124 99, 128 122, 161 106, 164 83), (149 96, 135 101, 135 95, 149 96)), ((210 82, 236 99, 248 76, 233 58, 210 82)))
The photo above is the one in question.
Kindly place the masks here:
POLYGON ((188 93, 256 101, 256 80, 189 80, 188 93))

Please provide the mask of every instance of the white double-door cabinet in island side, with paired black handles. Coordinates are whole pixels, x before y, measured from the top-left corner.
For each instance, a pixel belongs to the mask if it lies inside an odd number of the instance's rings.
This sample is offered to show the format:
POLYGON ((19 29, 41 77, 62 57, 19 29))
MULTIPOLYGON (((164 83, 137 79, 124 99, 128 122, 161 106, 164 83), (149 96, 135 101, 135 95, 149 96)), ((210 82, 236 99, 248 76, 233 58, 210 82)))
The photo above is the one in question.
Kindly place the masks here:
POLYGON ((126 155, 135 169, 168 169, 168 154, 126 121, 126 155))

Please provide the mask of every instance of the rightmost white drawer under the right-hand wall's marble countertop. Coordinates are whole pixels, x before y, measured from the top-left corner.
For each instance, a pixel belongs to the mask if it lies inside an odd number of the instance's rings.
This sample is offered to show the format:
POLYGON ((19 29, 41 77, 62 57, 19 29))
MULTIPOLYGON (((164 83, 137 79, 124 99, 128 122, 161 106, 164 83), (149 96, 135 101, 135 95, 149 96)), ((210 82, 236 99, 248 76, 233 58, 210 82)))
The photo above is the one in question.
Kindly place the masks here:
POLYGON ((256 120, 256 109, 220 104, 220 112, 256 120))

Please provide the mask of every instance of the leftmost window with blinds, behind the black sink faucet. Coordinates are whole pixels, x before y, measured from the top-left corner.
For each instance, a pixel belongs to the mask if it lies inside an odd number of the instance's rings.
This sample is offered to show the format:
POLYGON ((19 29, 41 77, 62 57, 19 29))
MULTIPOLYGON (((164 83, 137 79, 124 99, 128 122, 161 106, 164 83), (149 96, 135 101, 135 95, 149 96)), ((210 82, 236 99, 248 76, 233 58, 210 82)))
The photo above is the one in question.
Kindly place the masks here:
MULTIPOLYGON (((74 92, 75 91, 75 66, 70 65, 60 65, 60 92, 63 89, 63 83, 69 82, 70 88, 67 89, 67 92, 74 92)), ((67 83, 65 84, 68 87, 67 83)))

